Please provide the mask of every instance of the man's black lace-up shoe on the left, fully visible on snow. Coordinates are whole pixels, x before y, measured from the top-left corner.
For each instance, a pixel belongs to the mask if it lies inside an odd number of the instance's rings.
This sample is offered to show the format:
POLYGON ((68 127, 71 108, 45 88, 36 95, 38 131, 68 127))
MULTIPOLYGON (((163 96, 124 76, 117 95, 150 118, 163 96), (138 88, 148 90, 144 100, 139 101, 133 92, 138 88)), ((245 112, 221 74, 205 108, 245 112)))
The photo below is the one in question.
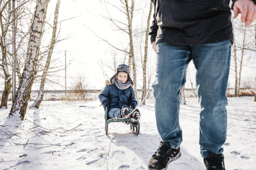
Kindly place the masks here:
POLYGON ((149 170, 167 169, 168 164, 181 157, 180 148, 173 149, 168 142, 161 141, 148 163, 149 170))

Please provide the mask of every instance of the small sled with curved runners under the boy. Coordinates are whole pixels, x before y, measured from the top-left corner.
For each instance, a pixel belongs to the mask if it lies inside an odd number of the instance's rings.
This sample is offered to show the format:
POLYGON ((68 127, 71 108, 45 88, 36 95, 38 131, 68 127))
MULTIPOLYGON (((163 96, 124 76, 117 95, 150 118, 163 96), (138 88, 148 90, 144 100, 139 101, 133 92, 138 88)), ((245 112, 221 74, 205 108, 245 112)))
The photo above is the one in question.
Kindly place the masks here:
MULTIPOLYGON (((132 119, 131 118, 109 118, 108 117, 108 108, 106 107, 105 108, 105 132, 106 132, 106 135, 108 135, 108 124, 110 122, 124 122, 124 121, 128 121, 128 122, 132 122, 132 119)), ((133 131, 133 133, 135 135, 138 135, 139 134, 139 121, 135 121, 137 122, 137 125, 136 126, 133 126, 132 124, 130 124, 130 130, 133 131)))

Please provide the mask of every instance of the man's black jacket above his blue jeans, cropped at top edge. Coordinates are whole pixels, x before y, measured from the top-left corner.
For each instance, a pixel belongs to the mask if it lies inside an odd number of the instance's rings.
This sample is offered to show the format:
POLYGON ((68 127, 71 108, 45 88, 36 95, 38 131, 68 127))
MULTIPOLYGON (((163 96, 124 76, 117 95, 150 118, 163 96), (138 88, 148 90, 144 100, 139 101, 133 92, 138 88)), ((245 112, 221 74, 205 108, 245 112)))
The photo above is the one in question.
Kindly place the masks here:
MULTIPOLYGON (((233 42, 229 0, 151 0, 155 7, 151 43, 199 45, 233 42)), ((232 0, 233 4, 237 0, 232 0)), ((256 0, 252 0, 256 4, 256 0)))

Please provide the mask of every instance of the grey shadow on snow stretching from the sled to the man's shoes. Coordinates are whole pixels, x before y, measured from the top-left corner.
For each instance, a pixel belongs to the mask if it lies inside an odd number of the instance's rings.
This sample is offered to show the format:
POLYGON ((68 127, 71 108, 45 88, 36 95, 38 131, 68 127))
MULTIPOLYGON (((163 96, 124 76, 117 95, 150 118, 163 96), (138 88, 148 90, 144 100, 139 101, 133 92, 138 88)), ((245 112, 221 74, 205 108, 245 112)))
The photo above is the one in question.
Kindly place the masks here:
MULTIPOLYGON (((144 161, 146 167, 151 155, 158 149, 160 143, 159 134, 149 135, 140 133, 139 135, 118 134, 112 133, 108 136, 116 146, 122 146, 130 149, 137 157, 144 161), (113 135, 113 136, 112 136, 113 135)), ((204 170, 205 166, 198 161, 193 155, 189 154, 187 150, 181 147, 182 156, 180 159, 169 164, 168 169, 178 170, 204 170)), ((136 157, 131 155, 131 157, 136 157)), ((133 159, 133 158, 131 158, 133 159)))

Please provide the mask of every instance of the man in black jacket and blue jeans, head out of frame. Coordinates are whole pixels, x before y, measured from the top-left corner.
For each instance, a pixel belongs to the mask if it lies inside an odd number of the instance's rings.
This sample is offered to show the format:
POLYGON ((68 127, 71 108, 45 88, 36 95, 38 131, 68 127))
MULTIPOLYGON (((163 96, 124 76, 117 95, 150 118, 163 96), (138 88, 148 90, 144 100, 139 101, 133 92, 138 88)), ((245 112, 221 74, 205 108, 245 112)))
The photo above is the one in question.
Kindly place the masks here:
MULTIPOLYGON (((226 88, 233 31, 229 0, 151 0, 155 6, 151 43, 157 44, 153 84, 156 120, 162 138, 149 169, 165 169, 181 157, 179 92, 193 60, 200 99, 200 150, 208 170, 225 170, 226 88)), ((234 18, 249 26, 256 19, 256 0, 232 0, 234 18)))

